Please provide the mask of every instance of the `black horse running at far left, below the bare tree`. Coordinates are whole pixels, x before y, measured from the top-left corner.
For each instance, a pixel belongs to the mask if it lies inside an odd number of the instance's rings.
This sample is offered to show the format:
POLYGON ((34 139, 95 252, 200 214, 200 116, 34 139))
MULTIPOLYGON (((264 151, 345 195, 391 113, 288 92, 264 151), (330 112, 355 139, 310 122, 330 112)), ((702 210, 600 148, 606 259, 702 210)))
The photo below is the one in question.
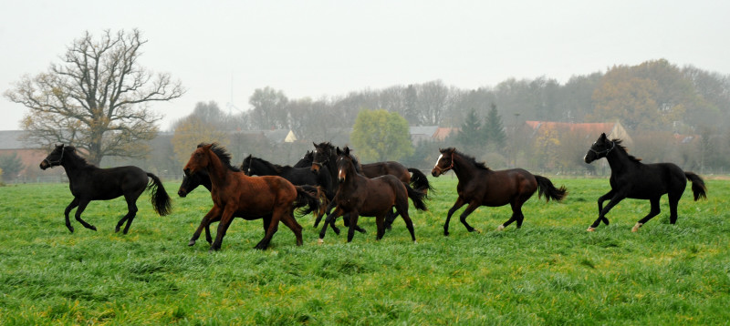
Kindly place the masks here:
POLYGON ((91 200, 110 200, 124 196, 127 201, 127 214, 117 222, 117 227, 114 229, 114 232, 119 232, 121 225, 126 221, 124 234, 130 230, 131 222, 137 216, 137 199, 145 189, 150 190, 152 208, 158 215, 165 216, 172 210, 172 200, 162 187, 160 178, 141 168, 134 166, 97 168, 78 156, 75 147, 64 144, 57 145, 43 159, 39 167, 45 170, 57 166, 66 170, 68 188, 71 189, 71 194, 74 196, 64 210, 66 227, 71 233, 74 232, 74 227, 71 226, 68 213, 76 207, 78 207, 75 214, 76 220, 87 229, 97 230, 95 226, 81 219, 81 213, 91 200), (149 179, 151 179, 151 184, 149 179))

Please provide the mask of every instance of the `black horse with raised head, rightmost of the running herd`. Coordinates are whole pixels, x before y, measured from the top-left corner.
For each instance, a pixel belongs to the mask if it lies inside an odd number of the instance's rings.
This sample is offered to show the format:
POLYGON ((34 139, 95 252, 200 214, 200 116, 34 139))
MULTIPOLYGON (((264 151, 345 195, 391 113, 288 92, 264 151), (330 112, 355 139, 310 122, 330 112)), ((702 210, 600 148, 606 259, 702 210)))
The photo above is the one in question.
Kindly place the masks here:
POLYGON ((692 181, 694 201, 707 198, 704 180, 698 175, 685 172, 673 163, 643 164, 640 158, 629 155, 620 139, 609 140, 605 133, 600 134, 590 146, 583 160, 590 163, 600 158, 609 161, 610 191, 599 198, 599 218, 587 229, 589 232, 596 230, 600 221, 609 225, 606 214, 622 199, 648 199, 652 209, 631 229, 632 232, 638 231, 644 223, 659 214, 659 199, 664 194, 669 198, 669 223, 676 223, 677 205, 687 186, 687 179, 692 181), (604 208, 603 202, 606 200, 610 201, 604 208))

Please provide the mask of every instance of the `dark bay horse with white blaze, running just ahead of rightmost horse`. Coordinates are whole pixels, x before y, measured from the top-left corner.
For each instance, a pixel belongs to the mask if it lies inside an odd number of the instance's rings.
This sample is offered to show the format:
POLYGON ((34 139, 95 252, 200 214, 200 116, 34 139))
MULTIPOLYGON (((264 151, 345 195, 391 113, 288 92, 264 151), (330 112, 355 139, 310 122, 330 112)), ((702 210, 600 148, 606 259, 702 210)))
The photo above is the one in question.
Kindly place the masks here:
POLYGON ((443 235, 449 235, 449 220, 454 212, 464 205, 459 217, 466 230, 474 232, 466 223, 466 217, 474 209, 480 206, 499 207, 509 204, 512 207, 512 216, 497 230, 505 229, 512 222, 516 222, 517 229, 522 227, 525 216, 522 214, 522 205, 530 199, 536 190, 538 197, 545 196, 550 199, 562 200, 568 195, 565 187, 555 188, 550 179, 531 174, 522 168, 510 168, 506 170, 492 170, 487 168, 483 162, 476 162, 473 157, 467 156, 455 148, 439 149, 441 155, 431 171, 433 177, 439 177, 443 173, 454 170, 459 183, 456 186, 458 198, 454 206, 449 209, 446 215, 446 222, 443 224, 443 235))

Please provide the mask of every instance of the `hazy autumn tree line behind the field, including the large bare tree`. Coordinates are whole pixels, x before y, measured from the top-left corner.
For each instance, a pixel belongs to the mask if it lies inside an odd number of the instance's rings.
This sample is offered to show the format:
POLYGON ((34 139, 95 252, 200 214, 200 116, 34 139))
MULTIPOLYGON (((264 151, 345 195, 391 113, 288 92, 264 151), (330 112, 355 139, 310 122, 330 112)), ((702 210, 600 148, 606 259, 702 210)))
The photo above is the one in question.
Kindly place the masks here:
MULTIPOLYGON (((433 156, 439 146, 458 146, 496 167, 586 168, 565 158, 574 154, 571 151, 584 151, 593 139, 574 139, 578 135, 558 130, 536 135, 524 130, 527 120, 620 121, 637 140, 637 151, 649 153, 644 155, 647 160, 681 160, 677 163, 722 169, 730 157, 726 130, 730 76, 694 66, 679 67, 664 59, 611 66, 606 72, 573 76, 565 84, 540 76, 464 89, 433 80, 318 99, 288 98, 284 90, 262 87, 249 97, 250 108, 242 113, 224 113, 214 101, 198 103, 189 116, 172 125, 170 144, 158 144, 152 139, 158 135, 161 117, 150 104, 181 97, 185 90, 171 75, 152 75, 139 66, 140 48, 146 42, 138 30, 105 31, 99 38, 87 32, 68 46, 61 63, 37 76, 23 77, 5 91, 6 98, 29 109, 22 121, 27 140, 39 146, 73 144, 95 164, 103 164, 102 158, 111 158, 107 164, 118 158, 162 159, 165 162, 158 165, 173 168, 194 143, 216 139, 229 146, 260 149, 271 155, 268 159, 290 163, 304 153, 310 140, 332 139, 355 126, 361 112, 383 110, 405 123, 372 125, 381 130, 396 126, 459 129, 443 141, 400 149, 406 155, 398 159, 420 167, 429 164, 425 160, 431 158, 426 157, 433 156), (267 144, 268 140, 245 132, 270 129, 292 130, 306 141, 267 144), (676 142, 677 135, 689 136, 696 146, 656 150, 676 142)), ((381 115, 370 118, 382 119, 381 115)), ((362 152, 370 153, 369 149, 362 152)), ((392 154, 367 156, 390 159, 392 154)))

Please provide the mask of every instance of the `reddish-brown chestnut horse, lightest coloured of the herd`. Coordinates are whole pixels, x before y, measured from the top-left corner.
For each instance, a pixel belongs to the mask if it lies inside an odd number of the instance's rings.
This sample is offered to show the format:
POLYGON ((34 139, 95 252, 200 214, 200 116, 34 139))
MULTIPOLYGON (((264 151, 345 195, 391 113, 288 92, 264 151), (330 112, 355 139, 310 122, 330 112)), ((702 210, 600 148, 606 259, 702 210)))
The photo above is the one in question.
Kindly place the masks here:
MULTIPOLYGON (((264 239, 261 239, 255 249, 266 250, 269 241, 274 236, 281 220, 294 232, 297 237, 297 246, 302 245, 302 227, 294 219, 294 209, 308 205, 309 209, 319 207, 318 196, 308 191, 317 188, 295 187, 287 179, 267 176, 248 177, 243 172, 235 172, 224 167, 221 159, 211 150, 214 144, 197 148, 185 165, 186 175, 205 170, 211 179, 213 209, 208 211, 195 230, 189 246, 195 244, 200 233, 212 220, 220 219, 218 232, 211 245, 211 250, 220 250, 225 231, 231 225, 234 216, 267 217, 271 215, 271 222, 266 230, 264 239)), ((308 213, 308 212, 306 212, 308 213)))

